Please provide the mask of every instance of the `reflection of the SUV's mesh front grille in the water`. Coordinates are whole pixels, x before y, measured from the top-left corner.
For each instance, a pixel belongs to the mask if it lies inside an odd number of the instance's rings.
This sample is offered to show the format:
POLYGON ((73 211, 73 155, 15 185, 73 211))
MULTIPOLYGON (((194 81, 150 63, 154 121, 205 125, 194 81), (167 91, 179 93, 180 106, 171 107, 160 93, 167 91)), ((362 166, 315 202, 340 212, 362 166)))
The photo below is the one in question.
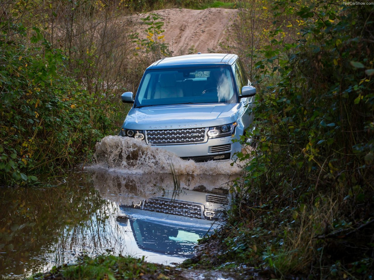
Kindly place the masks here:
POLYGON ((202 205, 160 197, 152 197, 145 201, 141 209, 189 218, 201 219, 203 217, 202 205))

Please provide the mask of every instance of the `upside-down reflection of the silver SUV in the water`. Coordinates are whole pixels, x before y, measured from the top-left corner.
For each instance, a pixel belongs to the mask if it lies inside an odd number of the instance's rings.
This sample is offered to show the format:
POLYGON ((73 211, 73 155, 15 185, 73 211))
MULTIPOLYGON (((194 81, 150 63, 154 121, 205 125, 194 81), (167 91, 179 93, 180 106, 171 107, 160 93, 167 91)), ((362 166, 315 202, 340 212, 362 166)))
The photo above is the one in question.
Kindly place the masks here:
POLYGON ((120 208, 129 217, 139 248, 190 257, 197 240, 218 227, 229 204, 227 190, 179 190, 120 208))

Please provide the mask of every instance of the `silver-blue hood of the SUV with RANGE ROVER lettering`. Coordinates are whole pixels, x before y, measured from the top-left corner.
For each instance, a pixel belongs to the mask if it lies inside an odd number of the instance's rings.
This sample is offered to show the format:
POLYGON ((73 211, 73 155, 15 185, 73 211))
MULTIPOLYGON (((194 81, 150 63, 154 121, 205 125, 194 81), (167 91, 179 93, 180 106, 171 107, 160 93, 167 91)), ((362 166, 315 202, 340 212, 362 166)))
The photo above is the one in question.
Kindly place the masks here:
POLYGON ((123 127, 134 130, 212 127, 235 122, 241 103, 188 104, 132 108, 123 127))

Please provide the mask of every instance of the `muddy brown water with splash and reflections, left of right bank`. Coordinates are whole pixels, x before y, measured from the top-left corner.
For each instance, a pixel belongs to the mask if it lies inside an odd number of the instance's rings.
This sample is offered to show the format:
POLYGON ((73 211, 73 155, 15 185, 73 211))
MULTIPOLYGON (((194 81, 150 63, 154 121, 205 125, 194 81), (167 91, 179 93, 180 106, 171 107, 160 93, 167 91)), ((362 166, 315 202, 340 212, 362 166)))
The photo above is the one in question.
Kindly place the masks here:
POLYGON ((1 189, 0 277, 99 254, 177 264, 221 222, 239 167, 195 164, 117 136, 83 171, 41 188, 1 189))

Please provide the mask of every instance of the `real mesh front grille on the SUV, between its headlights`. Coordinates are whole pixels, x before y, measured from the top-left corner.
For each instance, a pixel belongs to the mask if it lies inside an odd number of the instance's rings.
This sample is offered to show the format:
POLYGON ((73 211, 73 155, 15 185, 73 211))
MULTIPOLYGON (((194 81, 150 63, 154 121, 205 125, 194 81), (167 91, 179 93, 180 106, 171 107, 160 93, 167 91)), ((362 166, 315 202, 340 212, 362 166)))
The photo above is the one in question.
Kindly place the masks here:
POLYGON ((205 127, 147 130, 145 134, 150 145, 203 143, 205 141, 205 127))

